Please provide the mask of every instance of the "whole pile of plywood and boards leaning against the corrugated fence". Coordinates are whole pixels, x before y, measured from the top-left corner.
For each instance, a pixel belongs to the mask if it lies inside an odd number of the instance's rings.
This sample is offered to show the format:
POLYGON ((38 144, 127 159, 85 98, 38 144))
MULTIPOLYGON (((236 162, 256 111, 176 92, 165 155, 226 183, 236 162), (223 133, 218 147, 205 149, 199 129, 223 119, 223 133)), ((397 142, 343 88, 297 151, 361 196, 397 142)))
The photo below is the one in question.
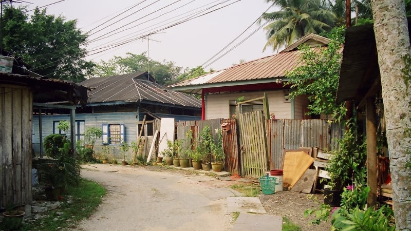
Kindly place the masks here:
POLYGON ((331 158, 332 155, 316 147, 284 150, 283 187, 306 194, 315 192, 318 179, 328 178, 324 167, 331 158))

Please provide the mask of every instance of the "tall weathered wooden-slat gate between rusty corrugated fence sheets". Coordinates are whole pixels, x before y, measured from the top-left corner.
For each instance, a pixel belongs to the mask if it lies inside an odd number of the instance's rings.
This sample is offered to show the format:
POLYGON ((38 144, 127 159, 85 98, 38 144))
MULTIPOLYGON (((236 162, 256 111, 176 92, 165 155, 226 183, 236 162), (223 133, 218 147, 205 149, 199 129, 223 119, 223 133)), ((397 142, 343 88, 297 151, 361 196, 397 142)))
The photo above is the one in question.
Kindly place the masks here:
POLYGON ((268 169, 265 121, 261 111, 239 114, 242 176, 259 178, 268 169))

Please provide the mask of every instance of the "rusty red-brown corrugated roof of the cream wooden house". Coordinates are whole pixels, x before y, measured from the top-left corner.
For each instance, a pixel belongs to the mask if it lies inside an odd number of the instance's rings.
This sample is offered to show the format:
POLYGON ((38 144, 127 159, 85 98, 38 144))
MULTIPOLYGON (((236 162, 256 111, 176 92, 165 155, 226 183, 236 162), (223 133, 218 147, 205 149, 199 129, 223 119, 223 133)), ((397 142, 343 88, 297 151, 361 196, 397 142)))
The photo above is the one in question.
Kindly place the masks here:
POLYGON ((299 65, 298 56, 300 53, 296 49, 298 45, 304 43, 312 46, 313 49, 320 49, 319 46, 326 45, 329 41, 328 38, 309 34, 277 54, 204 74, 171 85, 169 88, 199 94, 203 88, 270 83, 275 82, 278 78, 286 81, 284 79, 285 72, 299 65))

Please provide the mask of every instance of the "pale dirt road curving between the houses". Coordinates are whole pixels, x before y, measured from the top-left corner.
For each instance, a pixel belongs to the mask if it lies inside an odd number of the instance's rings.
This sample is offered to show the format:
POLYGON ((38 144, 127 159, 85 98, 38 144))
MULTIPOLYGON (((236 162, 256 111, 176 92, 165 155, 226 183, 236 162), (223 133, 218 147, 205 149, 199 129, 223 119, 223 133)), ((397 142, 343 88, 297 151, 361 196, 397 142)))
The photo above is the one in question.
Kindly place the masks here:
POLYGON ((230 230, 233 225, 226 197, 235 191, 210 176, 109 164, 84 166, 82 176, 102 184, 108 195, 72 230, 230 230))

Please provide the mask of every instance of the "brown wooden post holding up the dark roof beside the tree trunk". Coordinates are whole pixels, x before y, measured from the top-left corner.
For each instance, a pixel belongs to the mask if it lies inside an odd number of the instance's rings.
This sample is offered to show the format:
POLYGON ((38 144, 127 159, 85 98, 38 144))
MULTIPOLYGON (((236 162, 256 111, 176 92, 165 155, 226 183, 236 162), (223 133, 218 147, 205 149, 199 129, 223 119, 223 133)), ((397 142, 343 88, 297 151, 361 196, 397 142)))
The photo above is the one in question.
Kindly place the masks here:
POLYGON ((367 185, 370 188, 367 198, 368 207, 377 203, 377 127, 375 111, 373 98, 367 98, 367 185))

